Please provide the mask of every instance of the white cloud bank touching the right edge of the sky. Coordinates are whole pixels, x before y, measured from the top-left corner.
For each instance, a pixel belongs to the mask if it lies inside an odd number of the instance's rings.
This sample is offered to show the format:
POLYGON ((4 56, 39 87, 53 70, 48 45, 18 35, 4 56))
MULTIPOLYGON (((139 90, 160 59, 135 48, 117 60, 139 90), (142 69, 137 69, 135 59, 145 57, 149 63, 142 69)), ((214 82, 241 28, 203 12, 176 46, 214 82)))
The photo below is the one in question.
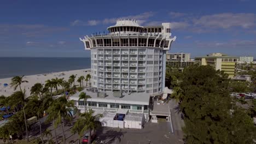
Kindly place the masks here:
POLYGON ((208 28, 251 28, 255 26, 254 18, 255 14, 251 13, 223 13, 202 16, 200 17, 200 19, 194 19, 193 22, 195 26, 202 26, 208 28))

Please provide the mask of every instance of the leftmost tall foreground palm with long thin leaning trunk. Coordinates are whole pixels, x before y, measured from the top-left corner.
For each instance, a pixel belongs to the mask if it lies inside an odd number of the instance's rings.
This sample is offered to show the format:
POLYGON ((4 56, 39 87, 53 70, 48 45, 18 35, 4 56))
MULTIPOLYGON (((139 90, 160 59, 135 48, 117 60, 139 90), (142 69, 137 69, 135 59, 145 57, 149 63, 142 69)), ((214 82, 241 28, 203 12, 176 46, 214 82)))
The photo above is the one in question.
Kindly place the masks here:
POLYGON ((27 135, 27 142, 28 140, 28 130, 27 130, 27 119, 26 119, 26 113, 25 113, 25 106, 27 103, 26 95, 25 95, 25 89, 24 92, 18 91, 11 94, 11 100, 10 104, 15 106, 22 106, 22 111, 24 114, 24 121, 25 121, 25 128, 26 128, 26 135, 27 135))

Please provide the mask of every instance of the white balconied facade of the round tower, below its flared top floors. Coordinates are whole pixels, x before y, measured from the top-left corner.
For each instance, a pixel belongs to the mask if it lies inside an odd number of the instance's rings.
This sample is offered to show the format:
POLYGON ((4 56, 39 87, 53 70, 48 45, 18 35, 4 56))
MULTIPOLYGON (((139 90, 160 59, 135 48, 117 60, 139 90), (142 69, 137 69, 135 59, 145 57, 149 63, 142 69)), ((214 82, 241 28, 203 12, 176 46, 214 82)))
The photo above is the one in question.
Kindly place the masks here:
POLYGON ((164 50, 154 47, 93 48, 92 86, 99 91, 130 89, 137 93, 159 93, 165 82, 163 53, 164 50))

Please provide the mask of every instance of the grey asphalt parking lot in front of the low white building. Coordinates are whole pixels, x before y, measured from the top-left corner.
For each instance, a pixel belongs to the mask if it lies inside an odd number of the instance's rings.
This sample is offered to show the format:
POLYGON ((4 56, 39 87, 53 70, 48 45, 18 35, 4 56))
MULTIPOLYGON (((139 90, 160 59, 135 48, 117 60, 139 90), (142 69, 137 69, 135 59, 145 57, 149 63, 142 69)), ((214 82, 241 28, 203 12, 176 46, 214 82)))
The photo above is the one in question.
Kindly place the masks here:
POLYGON ((171 123, 146 123, 144 129, 119 129, 102 127, 97 131, 96 143, 183 143, 177 135, 171 133, 171 123))

